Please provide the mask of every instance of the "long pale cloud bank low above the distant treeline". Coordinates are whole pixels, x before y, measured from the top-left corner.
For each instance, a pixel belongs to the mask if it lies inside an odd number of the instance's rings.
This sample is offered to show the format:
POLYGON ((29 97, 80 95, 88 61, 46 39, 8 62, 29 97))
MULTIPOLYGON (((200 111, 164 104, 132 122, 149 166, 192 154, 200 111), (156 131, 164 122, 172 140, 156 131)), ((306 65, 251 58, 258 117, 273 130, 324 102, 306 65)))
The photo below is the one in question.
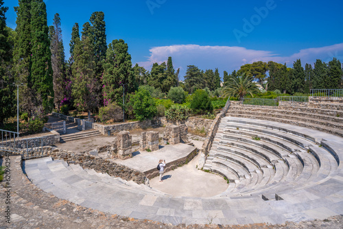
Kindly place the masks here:
POLYGON ((314 63, 316 59, 321 59, 329 62, 333 57, 343 61, 343 43, 326 47, 301 49, 298 53, 291 56, 280 56, 272 51, 246 49, 245 47, 228 47, 228 46, 200 46, 200 45, 170 45, 163 47, 153 47, 150 49, 150 56, 147 61, 139 62, 140 66, 145 69, 151 69, 154 62, 161 64, 167 62, 169 56, 173 58, 174 69, 180 67, 180 78, 185 75, 187 65, 196 65, 199 69, 215 69, 220 70, 222 76, 223 71, 230 73, 234 69, 239 69, 241 65, 252 63, 255 61, 270 60, 287 63, 288 67, 292 67, 296 59, 301 59, 303 64, 314 63))

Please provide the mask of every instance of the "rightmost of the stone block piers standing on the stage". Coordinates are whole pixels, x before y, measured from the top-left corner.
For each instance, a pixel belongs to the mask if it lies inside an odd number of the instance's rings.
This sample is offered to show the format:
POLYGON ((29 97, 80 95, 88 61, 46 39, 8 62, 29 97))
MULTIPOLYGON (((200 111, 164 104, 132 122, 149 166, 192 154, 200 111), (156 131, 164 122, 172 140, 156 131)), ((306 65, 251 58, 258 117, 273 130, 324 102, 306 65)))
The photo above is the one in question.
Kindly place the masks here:
POLYGON ((188 128, 186 124, 169 125, 165 128, 163 140, 165 143, 175 145, 188 142, 188 128))

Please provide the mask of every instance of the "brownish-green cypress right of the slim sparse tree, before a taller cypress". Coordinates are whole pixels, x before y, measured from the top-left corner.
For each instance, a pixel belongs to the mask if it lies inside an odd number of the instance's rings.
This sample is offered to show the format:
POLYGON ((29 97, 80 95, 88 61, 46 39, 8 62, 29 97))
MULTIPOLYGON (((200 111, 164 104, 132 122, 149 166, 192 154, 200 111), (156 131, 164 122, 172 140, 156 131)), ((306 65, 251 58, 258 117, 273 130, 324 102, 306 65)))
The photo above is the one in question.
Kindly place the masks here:
POLYGON ((78 110, 87 110, 88 118, 90 118, 91 111, 99 104, 99 95, 97 94, 99 84, 94 77, 95 57, 91 39, 83 37, 82 40, 75 43, 73 51, 75 62, 71 69, 73 71, 74 104, 78 110))

